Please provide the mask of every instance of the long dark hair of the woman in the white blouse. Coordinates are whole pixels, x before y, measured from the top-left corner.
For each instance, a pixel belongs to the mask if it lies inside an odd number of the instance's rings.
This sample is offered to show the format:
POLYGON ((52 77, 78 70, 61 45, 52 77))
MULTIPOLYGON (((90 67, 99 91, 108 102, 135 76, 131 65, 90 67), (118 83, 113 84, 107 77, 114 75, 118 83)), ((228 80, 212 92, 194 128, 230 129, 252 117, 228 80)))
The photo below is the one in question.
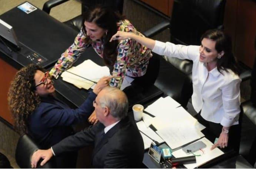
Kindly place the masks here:
POLYGON ((227 69, 232 70, 237 75, 240 74, 239 67, 237 65, 237 61, 235 56, 232 53, 232 41, 231 38, 225 34, 222 30, 208 30, 206 31, 202 37, 203 38, 212 39, 216 42, 215 49, 218 53, 221 51, 224 52, 224 55, 217 59, 217 70, 221 73, 221 70, 225 70, 228 72, 227 69))

